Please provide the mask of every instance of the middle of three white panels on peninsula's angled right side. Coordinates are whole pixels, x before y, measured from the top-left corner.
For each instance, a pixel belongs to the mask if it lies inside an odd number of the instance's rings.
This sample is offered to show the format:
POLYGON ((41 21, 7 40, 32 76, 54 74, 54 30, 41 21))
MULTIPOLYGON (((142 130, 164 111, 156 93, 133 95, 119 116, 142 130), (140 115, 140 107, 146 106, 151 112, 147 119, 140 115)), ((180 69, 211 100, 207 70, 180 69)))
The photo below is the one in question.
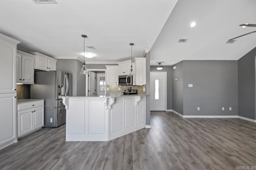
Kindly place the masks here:
POLYGON ((125 98, 125 128, 135 126, 135 98, 125 98))

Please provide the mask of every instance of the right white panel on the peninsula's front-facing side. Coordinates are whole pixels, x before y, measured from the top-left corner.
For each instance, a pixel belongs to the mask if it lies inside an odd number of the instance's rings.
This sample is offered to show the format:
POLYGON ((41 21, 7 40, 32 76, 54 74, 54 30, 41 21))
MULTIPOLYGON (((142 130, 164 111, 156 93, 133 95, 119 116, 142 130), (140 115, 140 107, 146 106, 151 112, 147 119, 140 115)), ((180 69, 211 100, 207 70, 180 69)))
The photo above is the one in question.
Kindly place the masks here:
POLYGON ((89 134, 105 133, 105 100, 89 100, 89 134))

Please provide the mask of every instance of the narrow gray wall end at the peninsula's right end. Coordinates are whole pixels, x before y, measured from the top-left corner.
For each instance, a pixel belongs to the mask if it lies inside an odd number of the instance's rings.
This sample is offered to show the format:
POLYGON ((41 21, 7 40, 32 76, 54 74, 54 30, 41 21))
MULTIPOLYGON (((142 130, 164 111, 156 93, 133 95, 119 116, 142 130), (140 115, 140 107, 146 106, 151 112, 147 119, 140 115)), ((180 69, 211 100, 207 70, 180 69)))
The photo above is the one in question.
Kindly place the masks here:
POLYGON ((146 53, 146 125, 150 125, 150 52, 146 53))

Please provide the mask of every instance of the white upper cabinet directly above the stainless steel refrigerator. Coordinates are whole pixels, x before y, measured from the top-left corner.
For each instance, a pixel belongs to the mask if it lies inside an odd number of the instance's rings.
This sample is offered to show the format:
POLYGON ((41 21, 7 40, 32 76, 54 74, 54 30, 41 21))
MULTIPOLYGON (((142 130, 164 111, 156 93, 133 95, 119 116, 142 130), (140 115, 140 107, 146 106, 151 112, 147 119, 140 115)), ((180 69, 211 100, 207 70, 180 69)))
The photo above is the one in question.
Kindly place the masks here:
POLYGON ((57 60, 49 57, 47 55, 43 55, 38 52, 32 52, 31 54, 36 56, 35 62, 34 62, 34 68, 38 70, 57 70, 57 60))

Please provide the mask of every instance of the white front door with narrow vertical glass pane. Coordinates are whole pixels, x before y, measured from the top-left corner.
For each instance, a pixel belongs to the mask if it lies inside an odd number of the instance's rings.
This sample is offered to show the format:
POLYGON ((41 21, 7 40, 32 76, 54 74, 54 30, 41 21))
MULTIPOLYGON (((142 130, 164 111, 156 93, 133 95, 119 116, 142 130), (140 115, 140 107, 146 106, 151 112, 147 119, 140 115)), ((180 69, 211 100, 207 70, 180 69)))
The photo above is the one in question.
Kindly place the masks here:
POLYGON ((166 110, 166 72, 150 72, 150 110, 166 110))

